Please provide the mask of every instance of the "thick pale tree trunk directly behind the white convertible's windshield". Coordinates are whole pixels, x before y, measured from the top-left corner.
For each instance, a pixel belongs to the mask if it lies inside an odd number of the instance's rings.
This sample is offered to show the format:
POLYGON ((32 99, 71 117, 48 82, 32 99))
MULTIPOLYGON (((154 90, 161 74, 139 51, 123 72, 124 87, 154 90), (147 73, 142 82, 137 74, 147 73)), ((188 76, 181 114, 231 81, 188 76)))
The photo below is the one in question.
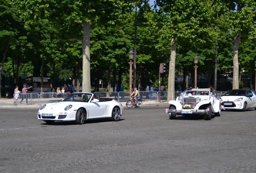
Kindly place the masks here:
POLYGON ((84 21, 84 38, 83 38, 83 81, 82 91, 91 93, 91 73, 90 73, 90 32, 89 22, 84 21))

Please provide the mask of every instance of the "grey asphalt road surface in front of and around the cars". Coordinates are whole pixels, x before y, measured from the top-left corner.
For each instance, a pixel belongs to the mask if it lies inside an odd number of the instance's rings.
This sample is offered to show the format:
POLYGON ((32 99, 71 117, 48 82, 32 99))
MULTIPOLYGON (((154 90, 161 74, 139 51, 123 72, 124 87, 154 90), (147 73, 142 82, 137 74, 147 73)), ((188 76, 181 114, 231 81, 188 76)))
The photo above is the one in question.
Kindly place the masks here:
POLYGON ((169 120, 164 107, 125 109, 84 125, 0 109, 0 172, 254 173, 256 111, 169 120))

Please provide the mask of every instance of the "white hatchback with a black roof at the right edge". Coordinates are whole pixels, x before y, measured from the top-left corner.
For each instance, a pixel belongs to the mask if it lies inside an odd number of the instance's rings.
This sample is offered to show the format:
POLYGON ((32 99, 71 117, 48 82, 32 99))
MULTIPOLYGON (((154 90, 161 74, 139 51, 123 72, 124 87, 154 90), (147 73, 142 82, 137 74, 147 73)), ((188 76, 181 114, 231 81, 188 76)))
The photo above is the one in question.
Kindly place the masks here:
POLYGON ((256 95, 250 89, 229 90, 220 97, 224 109, 237 109, 246 111, 248 108, 256 110, 256 95))

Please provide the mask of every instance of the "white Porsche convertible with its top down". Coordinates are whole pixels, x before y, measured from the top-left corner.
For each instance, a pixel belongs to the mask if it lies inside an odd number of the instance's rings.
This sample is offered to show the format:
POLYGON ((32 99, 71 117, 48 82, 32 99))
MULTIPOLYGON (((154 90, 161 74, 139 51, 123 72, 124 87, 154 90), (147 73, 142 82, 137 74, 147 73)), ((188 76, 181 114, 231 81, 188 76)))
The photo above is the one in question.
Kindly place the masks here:
POLYGON ((55 121, 75 121, 84 124, 89 119, 112 119, 118 121, 123 114, 124 107, 109 98, 100 99, 92 93, 73 93, 61 102, 43 105, 37 113, 37 118, 48 124, 55 121))

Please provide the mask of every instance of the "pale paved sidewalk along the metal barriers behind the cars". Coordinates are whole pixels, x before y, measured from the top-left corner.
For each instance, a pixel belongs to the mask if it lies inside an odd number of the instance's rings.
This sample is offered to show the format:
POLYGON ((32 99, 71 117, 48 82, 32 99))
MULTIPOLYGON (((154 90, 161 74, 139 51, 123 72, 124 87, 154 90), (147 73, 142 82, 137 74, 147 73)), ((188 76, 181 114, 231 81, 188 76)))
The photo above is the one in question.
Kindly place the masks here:
MULTIPOLYGON (((127 101, 120 102, 124 108, 126 107, 127 101)), ((23 109, 23 108, 31 108, 31 109, 39 109, 41 105, 37 104, 27 104, 27 103, 18 103, 17 105, 13 104, 12 98, 2 98, 0 99, 0 109, 10 109, 10 108, 16 108, 16 109, 23 109)), ((142 100, 142 107, 169 107, 169 104, 167 101, 161 101, 161 103, 158 103, 158 101, 155 100, 142 100)))

